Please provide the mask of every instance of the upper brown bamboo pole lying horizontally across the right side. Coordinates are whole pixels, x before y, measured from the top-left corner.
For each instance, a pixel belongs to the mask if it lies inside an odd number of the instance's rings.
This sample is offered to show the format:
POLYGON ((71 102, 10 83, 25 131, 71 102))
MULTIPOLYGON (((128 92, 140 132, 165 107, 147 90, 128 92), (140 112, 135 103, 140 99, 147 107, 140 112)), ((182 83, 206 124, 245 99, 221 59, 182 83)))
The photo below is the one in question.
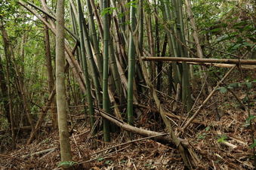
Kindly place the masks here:
POLYGON ((256 59, 199 59, 199 58, 186 58, 186 57, 167 57, 167 56, 144 56, 145 61, 156 62, 197 62, 197 63, 224 63, 236 65, 256 65, 256 59))

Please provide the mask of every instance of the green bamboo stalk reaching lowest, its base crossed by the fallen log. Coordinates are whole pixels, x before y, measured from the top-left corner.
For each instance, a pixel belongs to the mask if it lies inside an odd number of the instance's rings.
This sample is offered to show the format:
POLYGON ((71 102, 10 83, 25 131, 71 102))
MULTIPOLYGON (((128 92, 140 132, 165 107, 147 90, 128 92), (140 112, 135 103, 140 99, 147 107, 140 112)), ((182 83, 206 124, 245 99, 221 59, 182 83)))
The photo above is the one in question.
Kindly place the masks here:
MULTIPOLYGON (((103 0, 103 11, 109 8, 107 0, 103 0)), ((109 20, 103 15, 103 111, 109 114, 108 74, 109 74, 109 20)), ((103 119, 104 141, 110 141, 109 121, 103 119)))

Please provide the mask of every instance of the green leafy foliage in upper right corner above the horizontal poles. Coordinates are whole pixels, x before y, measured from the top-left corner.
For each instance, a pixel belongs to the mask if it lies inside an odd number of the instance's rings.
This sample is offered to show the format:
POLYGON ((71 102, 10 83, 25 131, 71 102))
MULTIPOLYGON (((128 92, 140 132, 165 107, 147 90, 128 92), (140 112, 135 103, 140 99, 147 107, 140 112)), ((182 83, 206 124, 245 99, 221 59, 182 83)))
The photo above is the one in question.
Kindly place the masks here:
MULTIPOLYGON (((202 44, 214 44, 213 48, 241 55, 252 50, 256 42, 256 29, 251 16, 254 9, 251 2, 239 1, 204 1, 193 2, 193 14, 199 29, 202 44), (238 8, 239 7, 239 8, 238 8), (204 39, 205 35, 208 37, 204 39)), ((214 58, 223 56, 217 51, 205 49, 205 56, 210 54, 214 58), (208 53, 208 54, 207 54, 208 53)))

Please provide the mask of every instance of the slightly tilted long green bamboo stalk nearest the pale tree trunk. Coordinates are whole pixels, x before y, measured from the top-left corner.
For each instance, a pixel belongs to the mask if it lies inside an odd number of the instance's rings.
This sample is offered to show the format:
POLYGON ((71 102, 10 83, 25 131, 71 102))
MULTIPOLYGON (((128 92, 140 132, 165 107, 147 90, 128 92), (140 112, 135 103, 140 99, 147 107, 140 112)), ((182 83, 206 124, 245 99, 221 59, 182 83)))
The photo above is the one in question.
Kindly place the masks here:
POLYGON ((91 85, 90 85, 90 80, 89 80, 89 74, 88 74, 88 66, 87 66, 87 61, 85 58, 85 39, 84 39, 84 34, 83 34, 83 30, 82 30, 82 20, 83 20, 83 16, 82 16, 82 7, 80 4, 80 0, 77 0, 77 4, 78 4, 78 8, 79 8, 79 33, 80 33, 80 47, 81 47, 81 51, 82 51, 82 62, 84 65, 83 71, 85 74, 85 87, 86 87, 86 97, 87 97, 87 101, 89 104, 89 115, 90 115, 90 120, 91 120, 91 127, 94 126, 94 104, 93 104, 93 100, 92 100, 92 96, 91 96, 91 85))

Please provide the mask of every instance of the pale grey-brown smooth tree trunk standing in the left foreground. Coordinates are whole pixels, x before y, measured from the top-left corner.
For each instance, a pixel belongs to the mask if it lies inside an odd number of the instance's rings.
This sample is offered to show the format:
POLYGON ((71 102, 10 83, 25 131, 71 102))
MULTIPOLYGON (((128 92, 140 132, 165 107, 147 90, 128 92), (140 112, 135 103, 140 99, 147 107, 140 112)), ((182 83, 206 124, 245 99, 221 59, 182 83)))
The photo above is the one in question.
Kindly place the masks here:
POLYGON ((72 160, 66 118, 64 0, 57 1, 56 95, 61 161, 72 160))

